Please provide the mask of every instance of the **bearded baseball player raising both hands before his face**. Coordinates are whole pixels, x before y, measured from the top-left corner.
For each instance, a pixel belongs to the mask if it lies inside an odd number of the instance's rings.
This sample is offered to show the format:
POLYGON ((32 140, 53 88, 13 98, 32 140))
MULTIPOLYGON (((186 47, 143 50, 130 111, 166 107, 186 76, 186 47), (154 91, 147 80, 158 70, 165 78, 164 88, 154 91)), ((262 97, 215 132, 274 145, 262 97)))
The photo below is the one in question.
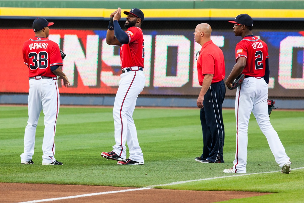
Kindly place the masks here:
POLYGON ((119 165, 143 165, 143 153, 137 139, 136 127, 133 121, 133 112, 137 96, 145 85, 143 74, 144 44, 143 32, 140 28, 144 15, 140 9, 125 11, 127 15, 124 32, 118 23, 121 18, 121 9, 118 8, 110 15, 107 31, 107 44, 120 46, 120 60, 122 74, 116 93, 113 117, 115 126, 115 142, 111 152, 102 152, 101 156, 117 160, 119 165), (126 159, 126 142, 130 156, 126 159))

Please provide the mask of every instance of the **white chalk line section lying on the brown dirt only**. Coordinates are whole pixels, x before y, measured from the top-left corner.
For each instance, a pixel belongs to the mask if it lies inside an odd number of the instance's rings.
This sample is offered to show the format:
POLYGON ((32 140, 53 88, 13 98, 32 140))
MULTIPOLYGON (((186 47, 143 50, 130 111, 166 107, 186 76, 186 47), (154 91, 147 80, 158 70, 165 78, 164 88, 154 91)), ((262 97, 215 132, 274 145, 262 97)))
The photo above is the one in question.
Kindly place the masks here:
POLYGON ((128 189, 128 190, 97 192, 97 193, 80 194, 80 195, 68 196, 68 197, 58 197, 58 198, 40 199, 40 200, 33 200, 33 201, 23 201, 23 202, 19 202, 19 203, 36 203, 36 202, 43 202, 43 201, 55 201, 55 200, 62 200, 62 199, 72 199, 72 198, 88 197, 88 196, 94 196, 94 195, 100 195, 100 194, 113 194, 113 193, 119 193, 119 192, 130 192, 130 191, 148 190, 148 189, 151 189, 151 188, 150 187, 142 187, 142 188, 135 188, 135 189, 128 189))

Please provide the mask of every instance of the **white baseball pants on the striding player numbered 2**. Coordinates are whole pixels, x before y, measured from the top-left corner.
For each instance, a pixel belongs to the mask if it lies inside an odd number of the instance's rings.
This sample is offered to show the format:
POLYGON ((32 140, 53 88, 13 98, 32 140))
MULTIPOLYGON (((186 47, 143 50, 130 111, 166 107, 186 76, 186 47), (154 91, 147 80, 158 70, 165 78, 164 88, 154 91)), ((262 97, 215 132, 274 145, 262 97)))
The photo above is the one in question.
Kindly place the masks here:
POLYGON ((235 173, 246 173, 248 123, 251 111, 257 123, 266 136, 275 161, 282 168, 285 163, 291 163, 284 146, 272 127, 268 116, 268 86, 263 78, 245 78, 237 88, 235 100, 235 117, 237 124, 236 155, 233 161, 235 173))

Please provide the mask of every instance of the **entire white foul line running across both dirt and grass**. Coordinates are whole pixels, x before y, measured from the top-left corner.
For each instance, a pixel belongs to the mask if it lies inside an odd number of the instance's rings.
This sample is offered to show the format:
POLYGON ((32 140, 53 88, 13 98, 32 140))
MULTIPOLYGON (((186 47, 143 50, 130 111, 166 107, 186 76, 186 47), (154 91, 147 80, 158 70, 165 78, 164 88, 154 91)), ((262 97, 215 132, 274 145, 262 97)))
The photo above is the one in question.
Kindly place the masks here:
MULTIPOLYGON (((299 170, 299 169, 304 169, 304 167, 294 168, 292 170, 299 170)), ((277 171, 269 171, 269 172, 261 172, 261 173, 244 173, 244 174, 237 174, 237 175, 232 175, 232 176, 221 176, 221 177, 203 178, 203 179, 198 179, 198 180, 186 180, 186 181, 178 181, 178 182, 173 182, 173 183, 168 183, 168 184, 150 185, 150 186, 147 186, 147 187, 128 189, 128 190, 117 190, 117 191, 98 192, 98 193, 91 193, 91 194, 81 194, 81 195, 68 196, 68 197, 41 199, 41 200, 33 200, 33 201, 23 201, 23 202, 19 202, 19 203, 36 203, 36 202, 44 202, 44 201, 55 201, 55 200, 62 200, 62 199, 89 197, 89 196, 95 196, 95 195, 100 195, 100 194, 113 194, 113 193, 119 193, 119 192, 130 192, 130 191, 138 191, 138 190, 148 190, 148 189, 152 189, 152 188, 158 187, 158 186, 178 185, 178 184, 195 182, 195 181, 202 181, 202 180, 214 180, 214 179, 220 179, 220 178, 239 177, 239 176, 248 176, 248 175, 262 174, 262 173, 276 173, 276 172, 281 172, 281 171, 277 170, 277 171)))

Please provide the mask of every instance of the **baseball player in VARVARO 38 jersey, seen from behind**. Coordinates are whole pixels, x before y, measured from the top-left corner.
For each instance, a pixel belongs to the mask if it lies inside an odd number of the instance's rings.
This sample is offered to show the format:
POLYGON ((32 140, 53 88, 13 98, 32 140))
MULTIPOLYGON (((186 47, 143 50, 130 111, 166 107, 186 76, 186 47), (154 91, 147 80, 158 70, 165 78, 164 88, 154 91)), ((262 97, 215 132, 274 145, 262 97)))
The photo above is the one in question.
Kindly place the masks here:
POLYGON ((65 87, 70 85, 70 82, 59 68, 63 62, 58 44, 47 39, 50 32, 49 26, 53 24, 44 18, 35 19, 33 22, 35 37, 24 42, 22 48, 24 63, 29 68, 29 120, 24 133, 24 153, 20 155, 21 164, 34 164, 32 158, 36 127, 40 112, 43 110, 45 128, 42 165, 62 165, 54 157, 54 136, 59 112, 57 79, 63 79, 65 87))

